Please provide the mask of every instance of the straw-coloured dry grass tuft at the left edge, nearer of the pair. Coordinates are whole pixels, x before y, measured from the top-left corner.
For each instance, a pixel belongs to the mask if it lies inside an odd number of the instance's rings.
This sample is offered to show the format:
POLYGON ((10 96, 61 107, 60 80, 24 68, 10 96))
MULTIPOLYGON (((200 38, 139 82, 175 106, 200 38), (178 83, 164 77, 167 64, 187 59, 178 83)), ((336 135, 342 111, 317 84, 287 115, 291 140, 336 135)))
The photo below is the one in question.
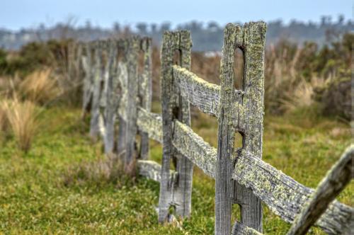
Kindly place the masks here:
MULTIPOLYGON (((18 147, 25 152, 31 147, 38 130, 38 110, 30 101, 20 102, 17 98, 1 101, 1 118, 8 122, 18 147)), ((6 125, 6 124, 5 124, 6 125)))

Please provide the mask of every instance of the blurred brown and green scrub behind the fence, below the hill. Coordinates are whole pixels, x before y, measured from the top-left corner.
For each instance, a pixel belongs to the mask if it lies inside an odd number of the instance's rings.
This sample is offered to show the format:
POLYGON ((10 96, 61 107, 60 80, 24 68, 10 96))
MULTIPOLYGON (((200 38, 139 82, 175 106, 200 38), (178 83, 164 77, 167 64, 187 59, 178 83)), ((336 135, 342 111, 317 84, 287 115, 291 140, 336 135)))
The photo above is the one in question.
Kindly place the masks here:
MULTIPOLYGON (((193 35, 192 35, 193 36, 193 35)), ((38 69, 52 69, 62 89, 72 86, 69 79, 68 50, 72 39, 30 42, 18 51, 0 50, 0 74, 25 77, 38 69)), ((354 34, 332 38, 326 45, 279 40, 265 50, 265 111, 281 115, 296 108, 316 108, 321 115, 350 119, 350 66, 353 63, 354 34)), ((235 55, 236 80, 241 81, 242 55, 235 55)), ((153 50, 154 100, 159 100, 159 49, 153 50)), ((203 79, 219 83, 218 52, 193 52, 192 71, 203 79)), ((4 78, 3 78, 4 79, 4 78)), ((236 85, 237 87, 237 85, 236 85)), ((79 105, 80 88, 68 97, 79 105), (74 97, 72 97, 74 96, 74 97)))

